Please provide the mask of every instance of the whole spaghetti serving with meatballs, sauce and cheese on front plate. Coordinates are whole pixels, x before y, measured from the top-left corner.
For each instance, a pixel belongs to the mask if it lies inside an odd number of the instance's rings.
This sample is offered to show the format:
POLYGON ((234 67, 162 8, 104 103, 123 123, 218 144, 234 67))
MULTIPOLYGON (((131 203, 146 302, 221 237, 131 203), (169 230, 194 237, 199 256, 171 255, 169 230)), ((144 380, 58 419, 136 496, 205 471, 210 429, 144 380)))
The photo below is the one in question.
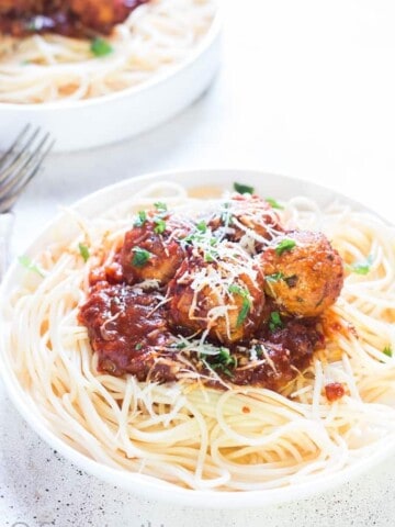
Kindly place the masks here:
POLYGON ((247 491, 340 471, 394 437, 393 228, 235 188, 161 183, 100 217, 70 211, 69 239, 21 259, 5 346, 78 451, 247 491))

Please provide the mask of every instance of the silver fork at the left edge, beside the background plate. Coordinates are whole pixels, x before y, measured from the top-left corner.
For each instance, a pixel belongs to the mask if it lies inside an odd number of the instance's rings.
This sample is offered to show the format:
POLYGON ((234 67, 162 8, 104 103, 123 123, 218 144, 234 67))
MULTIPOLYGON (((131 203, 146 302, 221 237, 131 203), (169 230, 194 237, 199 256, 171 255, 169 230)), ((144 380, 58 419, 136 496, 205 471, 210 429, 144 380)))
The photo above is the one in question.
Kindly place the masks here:
POLYGON ((12 208, 40 171, 54 143, 48 133, 43 135, 40 127, 27 124, 0 157, 0 280, 8 265, 12 208))

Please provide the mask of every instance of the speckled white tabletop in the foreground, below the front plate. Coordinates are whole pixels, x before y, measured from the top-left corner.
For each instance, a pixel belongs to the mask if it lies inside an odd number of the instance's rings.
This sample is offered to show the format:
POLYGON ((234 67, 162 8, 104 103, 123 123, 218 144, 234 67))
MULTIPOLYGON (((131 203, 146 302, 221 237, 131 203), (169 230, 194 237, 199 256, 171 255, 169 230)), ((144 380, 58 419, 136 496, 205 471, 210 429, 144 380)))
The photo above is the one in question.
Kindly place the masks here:
POLYGON ((394 525, 395 459, 336 492, 292 504, 232 512, 177 507, 139 498, 86 474, 25 425, 2 388, 0 397, 1 527, 394 525))

